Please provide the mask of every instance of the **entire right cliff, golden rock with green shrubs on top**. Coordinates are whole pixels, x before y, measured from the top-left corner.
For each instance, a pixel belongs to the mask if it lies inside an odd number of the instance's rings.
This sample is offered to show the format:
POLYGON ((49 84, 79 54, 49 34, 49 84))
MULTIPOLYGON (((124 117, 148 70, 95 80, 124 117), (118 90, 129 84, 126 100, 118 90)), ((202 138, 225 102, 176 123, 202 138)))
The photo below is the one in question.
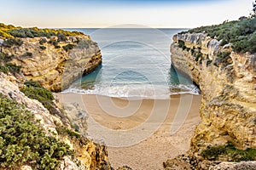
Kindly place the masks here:
MULTIPOLYGON (((195 128, 188 161, 195 168, 210 169, 210 165, 201 163, 203 160, 215 161, 216 164, 220 161, 256 160, 255 30, 255 19, 247 19, 201 27, 173 37, 172 65, 177 71, 189 75, 201 88, 201 123, 195 128), (241 26, 237 29, 244 30, 246 22, 254 23, 253 27, 247 25, 251 32, 243 37, 232 32, 230 25, 241 26), (218 36, 216 30, 221 30, 224 35, 218 36), (225 38, 225 34, 233 39, 225 38), (239 42, 238 38, 247 38, 249 43, 239 42), (252 156, 236 159, 230 148, 241 152, 251 150, 252 156)), ((177 160, 186 159, 181 156, 177 160)), ((174 166, 174 162, 166 161, 166 169, 174 166)))

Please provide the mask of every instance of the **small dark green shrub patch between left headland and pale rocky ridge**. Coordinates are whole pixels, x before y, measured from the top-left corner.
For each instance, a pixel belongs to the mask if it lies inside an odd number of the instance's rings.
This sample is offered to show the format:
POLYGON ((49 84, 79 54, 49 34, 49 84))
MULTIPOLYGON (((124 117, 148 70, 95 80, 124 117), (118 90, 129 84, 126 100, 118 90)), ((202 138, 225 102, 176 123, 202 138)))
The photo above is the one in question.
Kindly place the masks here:
POLYGON ((37 99, 40 103, 51 114, 58 114, 59 111, 56 110, 55 104, 53 103, 54 96, 53 94, 41 86, 38 82, 27 81, 24 82, 25 86, 20 88, 20 91, 25 94, 30 99, 37 99))

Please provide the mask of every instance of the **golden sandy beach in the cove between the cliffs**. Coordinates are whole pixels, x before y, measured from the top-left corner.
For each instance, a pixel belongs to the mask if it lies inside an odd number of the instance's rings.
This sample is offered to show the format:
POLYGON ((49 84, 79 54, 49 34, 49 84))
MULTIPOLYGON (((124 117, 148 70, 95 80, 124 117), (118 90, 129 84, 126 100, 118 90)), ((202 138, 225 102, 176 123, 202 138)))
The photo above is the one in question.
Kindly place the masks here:
POLYGON ((114 168, 126 165, 135 170, 163 169, 163 161, 189 150, 195 125, 200 122, 200 95, 132 100, 58 95, 61 101, 76 102, 88 112, 88 133, 108 145, 108 160, 114 168))

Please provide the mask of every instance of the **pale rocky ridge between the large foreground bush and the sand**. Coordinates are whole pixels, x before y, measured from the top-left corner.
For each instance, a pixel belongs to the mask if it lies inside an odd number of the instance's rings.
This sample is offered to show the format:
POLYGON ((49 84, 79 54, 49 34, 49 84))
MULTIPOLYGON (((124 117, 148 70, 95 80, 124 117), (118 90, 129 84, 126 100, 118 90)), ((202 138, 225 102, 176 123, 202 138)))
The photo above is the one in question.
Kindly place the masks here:
MULTIPOLYGON (((36 99, 30 99, 20 92, 23 81, 12 75, 0 72, 0 94, 15 100, 18 104, 24 105, 27 111, 40 120, 45 133, 54 136, 56 139, 68 144, 74 150, 74 156, 64 156, 59 169, 106 169, 110 170, 108 162, 108 152, 104 144, 96 144, 91 139, 87 139, 84 134, 87 124, 87 114, 79 109, 77 104, 65 104, 63 107, 56 106, 56 112, 49 112, 44 105, 36 99), (74 132, 72 127, 78 127, 79 133, 74 132), (68 133, 67 133, 68 132, 68 133), (71 135, 71 134, 73 135, 71 135)), ((56 103, 56 101, 54 101, 56 103)), ((32 169, 24 165, 21 169, 32 169)))

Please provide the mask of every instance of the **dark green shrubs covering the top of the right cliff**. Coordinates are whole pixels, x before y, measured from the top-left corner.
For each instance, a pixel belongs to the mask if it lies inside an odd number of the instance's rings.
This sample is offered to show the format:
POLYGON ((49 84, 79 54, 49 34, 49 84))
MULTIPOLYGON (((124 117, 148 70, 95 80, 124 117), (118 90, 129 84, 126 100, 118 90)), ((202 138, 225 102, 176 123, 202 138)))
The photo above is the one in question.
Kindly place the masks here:
POLYGON ((181 33, 204 32, 212 38, 222 40, 221 45, 231 43, 237 53, 256 53, 256 18, 224 22, 216 26, 201 26, 181 33))

